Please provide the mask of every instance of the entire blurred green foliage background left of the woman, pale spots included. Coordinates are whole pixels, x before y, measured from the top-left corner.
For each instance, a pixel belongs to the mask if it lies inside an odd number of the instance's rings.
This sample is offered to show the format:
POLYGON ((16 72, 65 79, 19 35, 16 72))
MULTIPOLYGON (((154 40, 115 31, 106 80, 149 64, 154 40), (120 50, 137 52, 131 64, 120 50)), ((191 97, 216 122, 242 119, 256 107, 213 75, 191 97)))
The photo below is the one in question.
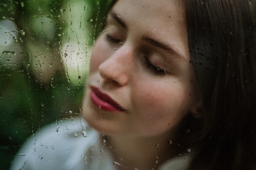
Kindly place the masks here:
POLYGON ((1 170, 40 127, 79 116, 90 48, 110 4, 0 0, 1 170))

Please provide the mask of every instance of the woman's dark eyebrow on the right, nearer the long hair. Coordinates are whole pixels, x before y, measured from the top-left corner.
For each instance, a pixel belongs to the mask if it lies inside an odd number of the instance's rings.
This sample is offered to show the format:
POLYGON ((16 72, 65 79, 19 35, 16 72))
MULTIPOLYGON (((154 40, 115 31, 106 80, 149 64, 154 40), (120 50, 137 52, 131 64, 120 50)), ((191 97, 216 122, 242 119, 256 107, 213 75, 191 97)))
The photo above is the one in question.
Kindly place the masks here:
POLYGON ((170 54, 175 54, 177 57, 186 61, 185 57, 183 57, 172 45, 169 45, 167 42, 159 42, 150 38, 147 35, 143 35, 142 40, 148 42, 148 44, 153 45, 154 47, 162 48, 170 54))

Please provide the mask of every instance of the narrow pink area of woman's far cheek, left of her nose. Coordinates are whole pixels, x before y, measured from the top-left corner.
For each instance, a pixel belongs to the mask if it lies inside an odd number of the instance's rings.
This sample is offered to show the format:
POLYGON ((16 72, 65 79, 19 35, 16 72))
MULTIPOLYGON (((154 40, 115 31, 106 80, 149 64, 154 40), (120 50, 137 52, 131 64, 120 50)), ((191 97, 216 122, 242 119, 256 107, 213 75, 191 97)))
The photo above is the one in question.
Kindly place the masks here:
POLYGON ((105 43, 103 40, 99 40, 94 46, 90 58, 90 72, 98 71, 99 65, 109 58, 110 49, 105 43))

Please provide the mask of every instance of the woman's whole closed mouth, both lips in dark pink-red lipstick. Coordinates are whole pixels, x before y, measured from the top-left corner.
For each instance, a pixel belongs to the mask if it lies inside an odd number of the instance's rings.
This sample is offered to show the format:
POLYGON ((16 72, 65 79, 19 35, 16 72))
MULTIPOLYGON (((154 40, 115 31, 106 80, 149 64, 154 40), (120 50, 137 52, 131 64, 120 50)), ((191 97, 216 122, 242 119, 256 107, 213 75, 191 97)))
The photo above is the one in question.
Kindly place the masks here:
POLYGON ((102 93, 99 88, 91 86, 90 99, 94 105, 98 106, 100 109, 105 111, 125 111, 117 102, 111 99, 107 94, 102 93))

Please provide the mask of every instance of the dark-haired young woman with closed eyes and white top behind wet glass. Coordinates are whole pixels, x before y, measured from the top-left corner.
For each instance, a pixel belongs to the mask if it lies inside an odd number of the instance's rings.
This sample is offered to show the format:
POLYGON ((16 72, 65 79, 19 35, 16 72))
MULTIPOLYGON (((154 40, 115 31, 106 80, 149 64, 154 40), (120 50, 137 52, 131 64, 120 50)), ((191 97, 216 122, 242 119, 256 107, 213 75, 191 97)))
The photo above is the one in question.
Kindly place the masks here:
POLYGON ((91 54, 89 126, 46 127, 12 166, 253 168, 254 9, 246 0, 118 0, 91 54))

